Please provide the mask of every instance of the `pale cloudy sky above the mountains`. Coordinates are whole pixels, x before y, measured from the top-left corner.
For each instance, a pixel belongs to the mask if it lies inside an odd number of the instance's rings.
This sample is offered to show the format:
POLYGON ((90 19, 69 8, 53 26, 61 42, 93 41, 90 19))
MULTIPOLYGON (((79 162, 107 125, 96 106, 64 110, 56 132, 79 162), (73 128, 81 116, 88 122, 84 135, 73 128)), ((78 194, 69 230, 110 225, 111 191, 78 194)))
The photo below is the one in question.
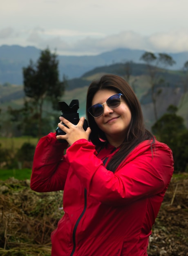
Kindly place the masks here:
POLYGON ((0 0, 0 45, 60 55, 188 51, 188 0, 0 0))

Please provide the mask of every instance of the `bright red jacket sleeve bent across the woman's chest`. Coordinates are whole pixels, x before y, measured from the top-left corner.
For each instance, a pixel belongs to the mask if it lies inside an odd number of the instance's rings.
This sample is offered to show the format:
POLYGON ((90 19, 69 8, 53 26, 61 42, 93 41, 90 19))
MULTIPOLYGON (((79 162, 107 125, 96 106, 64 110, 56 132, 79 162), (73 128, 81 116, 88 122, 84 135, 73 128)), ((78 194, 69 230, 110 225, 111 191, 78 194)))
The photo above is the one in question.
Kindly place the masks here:
POLYGON ((94 145, 86 140, 69 147, 67 158, 90 196, 115 205, 166 191, 173 173, 172 151, 160 142, 153 151, 148 142, 142 142, 115 173, 107 171, 94 153, 94 145))

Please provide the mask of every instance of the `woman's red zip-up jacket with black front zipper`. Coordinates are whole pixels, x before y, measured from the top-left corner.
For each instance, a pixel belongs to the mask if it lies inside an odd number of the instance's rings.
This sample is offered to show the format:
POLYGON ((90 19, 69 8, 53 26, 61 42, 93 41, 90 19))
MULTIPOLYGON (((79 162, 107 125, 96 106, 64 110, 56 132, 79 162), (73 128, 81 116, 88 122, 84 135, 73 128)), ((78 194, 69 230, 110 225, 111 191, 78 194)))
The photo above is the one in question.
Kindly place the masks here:
POLYGON ((54 133, 40 139, 31 175, 35 191, 64 190, 65 214, 51 234, 51 255, 146 256, 173 173, 170 148, 156 141, 152 152, 143 141, 113 173, 105 166, 119 148, 108 145, 97 154, 80 139, 63 156, 65 146, 54 133))

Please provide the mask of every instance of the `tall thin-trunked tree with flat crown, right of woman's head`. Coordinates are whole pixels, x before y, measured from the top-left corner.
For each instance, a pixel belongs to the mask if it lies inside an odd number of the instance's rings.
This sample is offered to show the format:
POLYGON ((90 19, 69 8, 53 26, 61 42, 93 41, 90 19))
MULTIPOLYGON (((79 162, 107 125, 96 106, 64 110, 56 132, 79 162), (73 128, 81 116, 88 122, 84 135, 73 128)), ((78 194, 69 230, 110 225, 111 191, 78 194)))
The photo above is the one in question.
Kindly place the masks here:
POLYGON ((156 56, 152 52, 145 52, 140 59, 144 61, 148 66, 154 117, 155 121, 157 121, 158 116, 156 103, 157 97, 159 96, 159 94, 161 94, 161 89, 157 90, 157 87, 159 87, 159 85, 163 84, 165 81, 164 78, 157 76, 157 74, 159 74, 159 70, 161 67, 166 68, 168 66, 172 66, 175 64, 175 61, 168 54, 159 53, 158 56, 156 56))

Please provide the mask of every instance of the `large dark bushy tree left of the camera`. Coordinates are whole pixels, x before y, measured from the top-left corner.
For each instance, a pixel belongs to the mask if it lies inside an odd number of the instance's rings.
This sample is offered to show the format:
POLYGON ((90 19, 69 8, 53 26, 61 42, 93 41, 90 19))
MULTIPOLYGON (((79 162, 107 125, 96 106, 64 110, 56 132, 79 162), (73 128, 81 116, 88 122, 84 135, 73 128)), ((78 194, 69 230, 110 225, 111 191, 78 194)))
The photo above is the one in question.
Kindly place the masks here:
MULTIPOLYGON (((40 53, 38 61, 34 64, 30 60, 28 67, 23 68, 23 82, 25 102, 20 110, 22 120, 22 133, 38 138, 43 135, 43 111, 47 101, 54 110, 58 109, 58 101, 65 91, 65 79, 59 80, 58 58, 47 48, 40 53), (30 128, 35 127, 35 133, 30 128)), ((14 111, 14 110, 13 110, 14 111)), ((13 112, 14 114, 15 112, 13 112)))

